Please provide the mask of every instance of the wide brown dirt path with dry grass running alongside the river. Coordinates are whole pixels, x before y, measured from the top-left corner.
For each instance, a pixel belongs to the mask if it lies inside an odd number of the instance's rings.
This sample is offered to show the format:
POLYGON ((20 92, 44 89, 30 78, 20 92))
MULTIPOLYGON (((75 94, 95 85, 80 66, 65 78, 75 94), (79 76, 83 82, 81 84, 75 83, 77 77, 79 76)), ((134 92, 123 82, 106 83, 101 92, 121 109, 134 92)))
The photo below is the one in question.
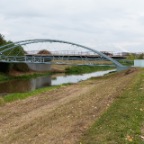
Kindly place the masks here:
POLYGON ((136 73, 91 79, 0 107, 0 143, 75 143, 136 73))

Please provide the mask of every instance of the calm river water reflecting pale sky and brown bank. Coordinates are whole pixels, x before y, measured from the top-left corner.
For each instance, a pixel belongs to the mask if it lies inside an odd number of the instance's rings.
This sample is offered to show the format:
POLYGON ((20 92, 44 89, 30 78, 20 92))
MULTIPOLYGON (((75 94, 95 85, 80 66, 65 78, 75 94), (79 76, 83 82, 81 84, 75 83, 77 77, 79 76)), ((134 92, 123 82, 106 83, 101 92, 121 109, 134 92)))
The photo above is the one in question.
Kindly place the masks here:
POLYGON ((98 77, 113 72, 115 70, 99 71, 83 75, 63 75, 63 76, 41 76, 29 80, 12 80, 0 83, 0 94, 28 92, 42 87, 61 85, 66 83, 77 83, 91 77, 98 77))

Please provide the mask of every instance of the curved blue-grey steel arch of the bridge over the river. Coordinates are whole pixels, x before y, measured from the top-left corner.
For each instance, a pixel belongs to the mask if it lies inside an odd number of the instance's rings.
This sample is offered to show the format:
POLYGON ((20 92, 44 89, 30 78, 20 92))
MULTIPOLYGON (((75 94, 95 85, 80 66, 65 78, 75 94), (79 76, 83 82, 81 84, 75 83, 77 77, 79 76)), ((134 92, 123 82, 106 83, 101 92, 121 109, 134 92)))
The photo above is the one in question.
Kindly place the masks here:
POLYGON ((92 49, 92 48, 89 48, 89 47, 86 47, 86 46, 83 46, 83 45, 80 45, 80 44, 76 44, 76 43, 73 43, 73 42, 68 42, 68 41, 63 41, 63 40, 54 40, 54 39, 33 39, 33 40, 23 40, 23 41, 18 41, 18 42, 15 42, 15 43, 10 43, 10 44, 7 44, 7 45, 4 45, 4 46, 1 46, 0 47, 0 54, 2 54, 3 52, 6 52, 10 49, 14 49, 16 48, 17 46, 23 46, 23 45, 27 45, 27 44, 32 44, 32 43, 40 43, 40 42, 49 42, 49 43, 64 43, 64 44, 69 44, 69 45, 74 45, 74 46, 77 46, 77 47, 81 47, 83 49, 86 49, 86 50, 89 50, 89 51, 92 51, 96 54, 98 54, 99 56, 111 61, 116 67, 118 70, 123 70, 123 69, 127 69, 126 66, 120 64, 118 61, 114 60, 113 58, 103 54, 102 52, 98 51, 98 50, 95 50, 95 49, 92 49))

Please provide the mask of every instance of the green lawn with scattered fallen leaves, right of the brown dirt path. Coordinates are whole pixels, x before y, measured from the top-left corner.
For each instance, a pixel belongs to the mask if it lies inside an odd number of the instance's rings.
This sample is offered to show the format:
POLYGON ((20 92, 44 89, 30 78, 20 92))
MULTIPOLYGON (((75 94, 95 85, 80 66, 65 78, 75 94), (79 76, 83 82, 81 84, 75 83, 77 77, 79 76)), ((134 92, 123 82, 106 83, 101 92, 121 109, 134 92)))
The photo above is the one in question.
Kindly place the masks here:
POLYGON ((81 144, 144 143, 144 70, 83 135, 81 144))

